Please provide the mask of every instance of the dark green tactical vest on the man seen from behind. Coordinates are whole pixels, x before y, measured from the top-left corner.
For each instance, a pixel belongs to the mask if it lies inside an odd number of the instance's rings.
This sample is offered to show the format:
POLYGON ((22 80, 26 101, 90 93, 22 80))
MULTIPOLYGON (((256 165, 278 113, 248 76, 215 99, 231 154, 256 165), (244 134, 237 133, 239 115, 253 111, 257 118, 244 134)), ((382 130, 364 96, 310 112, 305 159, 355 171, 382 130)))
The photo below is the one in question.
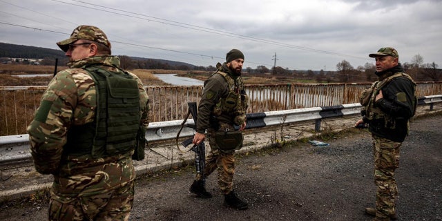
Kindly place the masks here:
POLYGON ((72 126, 64 151, 93 158, 133 151, 140 126, 140 91, 128 73, 86 67, 96 87, 95 121, 72 126))

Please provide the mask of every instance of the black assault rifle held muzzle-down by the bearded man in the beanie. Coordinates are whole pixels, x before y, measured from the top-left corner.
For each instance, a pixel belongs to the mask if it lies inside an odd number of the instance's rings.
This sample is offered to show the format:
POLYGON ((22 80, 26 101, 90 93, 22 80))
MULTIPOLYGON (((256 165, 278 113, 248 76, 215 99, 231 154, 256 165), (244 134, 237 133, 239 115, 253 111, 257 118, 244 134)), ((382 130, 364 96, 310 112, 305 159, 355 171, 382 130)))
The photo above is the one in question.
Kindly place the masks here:
MULTIPOLYGON (((187 113, 186 118, 184 119, 184 121, 181 124, 181 129, 177 134, 177 140, 178 137, 180 135, 180 132, 182 130, 182 127, 184 126, 184 123, 187 121, 187 118, 189 117, 189 115, 192 115, 193 118, 193 122, 195 122, 195 124, 187 124, 187 127, 189 128, 193 128, 193 130, 196 130, 196 119, 198 118, 198 108, 196 106, 195 102, 188 102, 187 106, 189 106, 189 113, 187 113)), ((182 146, 187 147, 190 144, 193 144, 193 136, 187 140, 184 140, 182 143, 182 146)), ((204 145, 204 142, 200 142, 200 144, 193 144, 192 148, 189 151, 193 151, 195 152, 195 169, 196 169, 196 173, 197 175, 200 175, 202 177, 202 181, 203 184, 205 182, 205 177, 204 177, 204 166, 206 164, 206 146, 204 145)))

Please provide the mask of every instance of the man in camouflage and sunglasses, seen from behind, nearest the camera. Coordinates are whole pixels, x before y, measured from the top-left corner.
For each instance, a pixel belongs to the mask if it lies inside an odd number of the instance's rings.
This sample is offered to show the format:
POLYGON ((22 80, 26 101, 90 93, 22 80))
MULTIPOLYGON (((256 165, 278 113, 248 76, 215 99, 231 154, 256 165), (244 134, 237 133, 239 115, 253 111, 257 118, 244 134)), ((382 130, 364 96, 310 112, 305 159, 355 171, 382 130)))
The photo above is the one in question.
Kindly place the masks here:
POLYGON ((119 67, 99 28, 79 26, 57 45, 69 69, 50 81, 28 126, 35 169, 54 176, 49 220, 128 220, 146 90, 119 67))

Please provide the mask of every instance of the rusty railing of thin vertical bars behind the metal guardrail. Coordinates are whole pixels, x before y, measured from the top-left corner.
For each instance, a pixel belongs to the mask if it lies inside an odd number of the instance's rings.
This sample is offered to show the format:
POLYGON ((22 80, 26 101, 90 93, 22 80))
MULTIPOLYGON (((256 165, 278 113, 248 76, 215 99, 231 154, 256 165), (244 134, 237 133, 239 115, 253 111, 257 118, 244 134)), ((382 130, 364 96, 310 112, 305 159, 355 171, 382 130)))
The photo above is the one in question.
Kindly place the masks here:
MULTIPOLYGON (((255 84, 246 85, 248 113, 358 103, 371 84, 255 84)), ((0 136, 26 133, 44 86, 0 87, 0 136)), ((151 99, 151 122, 183 119, 187 102, 199 102, 202 86, 146 86, 151 99)), ((419 82, 417 95, 441 95, 442 82, 419 82)))

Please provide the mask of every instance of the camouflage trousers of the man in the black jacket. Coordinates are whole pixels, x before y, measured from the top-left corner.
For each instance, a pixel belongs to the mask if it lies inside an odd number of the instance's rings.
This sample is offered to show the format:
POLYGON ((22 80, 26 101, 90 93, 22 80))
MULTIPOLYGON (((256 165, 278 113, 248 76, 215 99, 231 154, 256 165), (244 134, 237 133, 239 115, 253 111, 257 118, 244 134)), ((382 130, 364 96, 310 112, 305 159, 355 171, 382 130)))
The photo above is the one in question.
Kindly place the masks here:
POLYGON ((373 136, 374 184, 376 184, 376 218, 389 218, 396 213, 398 187, 394 170, 399 166, 401 142, 373 136))

